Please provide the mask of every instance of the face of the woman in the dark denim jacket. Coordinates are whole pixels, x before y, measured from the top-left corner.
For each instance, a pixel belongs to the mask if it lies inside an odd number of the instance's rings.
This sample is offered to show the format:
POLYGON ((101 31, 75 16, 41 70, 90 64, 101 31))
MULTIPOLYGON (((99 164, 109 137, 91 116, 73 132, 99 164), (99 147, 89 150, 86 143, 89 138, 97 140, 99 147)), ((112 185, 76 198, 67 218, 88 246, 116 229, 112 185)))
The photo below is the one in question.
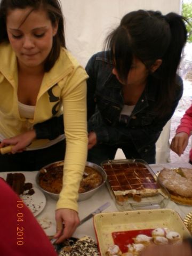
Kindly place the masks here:
POLYGON ((123 85, 142 85, 146 83, 149 71, 146 66, 137 58, 133 58, 133 63, 131 65, 129 74, 127 75, 126 81, 122 81, 117 73, 116 68, 112 70, 112 73, 117 77, 118 81, 123 85))

